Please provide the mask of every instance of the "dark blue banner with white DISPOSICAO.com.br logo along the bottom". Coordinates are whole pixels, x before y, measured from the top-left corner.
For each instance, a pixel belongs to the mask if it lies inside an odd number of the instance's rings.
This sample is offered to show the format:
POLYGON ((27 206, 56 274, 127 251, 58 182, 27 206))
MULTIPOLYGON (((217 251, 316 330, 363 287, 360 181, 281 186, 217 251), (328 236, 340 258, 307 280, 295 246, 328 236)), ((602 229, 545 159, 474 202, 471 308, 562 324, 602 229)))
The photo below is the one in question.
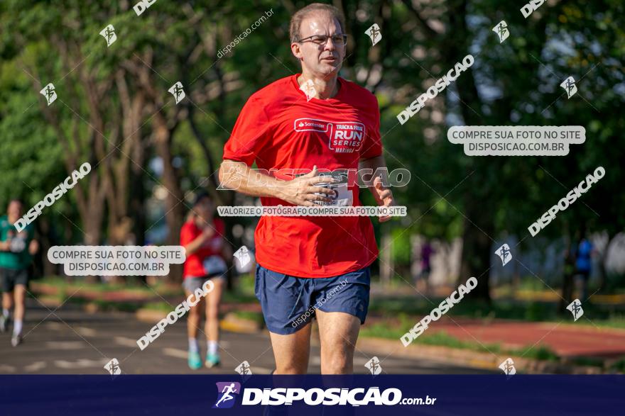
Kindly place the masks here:
POLYGON ((625 414, 625 376, 0 376, 0 415, 625 414))

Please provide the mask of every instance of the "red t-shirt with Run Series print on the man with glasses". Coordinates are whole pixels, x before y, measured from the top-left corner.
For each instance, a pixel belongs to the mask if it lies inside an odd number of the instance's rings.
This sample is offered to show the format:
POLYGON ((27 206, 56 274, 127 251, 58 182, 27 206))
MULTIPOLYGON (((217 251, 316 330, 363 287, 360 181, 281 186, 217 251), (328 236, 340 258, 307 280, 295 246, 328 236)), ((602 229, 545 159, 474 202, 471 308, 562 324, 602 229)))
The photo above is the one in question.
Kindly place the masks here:
MULTIPOLYGON (((306 100, 299 74, 253 94, 224 147, 224 159, 254 162, 259 169, 358 169, 360 158, 382 153, 376 97, 339 78, 332 99, 306 100)), ((280 179, 293 175, 276 174, 280 179)), ((349 186, 354 206, 362 205, 357 184, 349 186)), ((292 206, 262 197, 263 206, 292 206)), ((263 216, 254 234, 256 261, 278 273, 330 277, 369 266, 378 255, 368 217, 263 216)))

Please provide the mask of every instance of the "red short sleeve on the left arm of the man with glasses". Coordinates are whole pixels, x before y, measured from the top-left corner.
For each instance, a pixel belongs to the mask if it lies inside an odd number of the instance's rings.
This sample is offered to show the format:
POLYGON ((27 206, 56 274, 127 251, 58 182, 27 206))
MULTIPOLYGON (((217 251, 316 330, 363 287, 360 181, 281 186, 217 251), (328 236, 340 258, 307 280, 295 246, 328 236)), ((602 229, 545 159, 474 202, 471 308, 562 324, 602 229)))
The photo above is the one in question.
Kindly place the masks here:
POLYGON ((254 160, 266 142, 269 119, 261 99, 254 96, 245 103, 232 135, 224 146, 224 159, 244 162, 247 166, 254 160))

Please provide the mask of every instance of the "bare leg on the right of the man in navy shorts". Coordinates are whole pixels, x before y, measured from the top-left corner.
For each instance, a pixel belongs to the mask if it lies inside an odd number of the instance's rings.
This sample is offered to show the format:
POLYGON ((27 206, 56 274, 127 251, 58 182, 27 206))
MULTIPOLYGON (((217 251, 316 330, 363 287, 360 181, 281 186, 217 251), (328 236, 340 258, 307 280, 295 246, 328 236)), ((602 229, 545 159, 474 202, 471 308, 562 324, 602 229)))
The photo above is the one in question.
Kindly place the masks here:
POLYGON ((321 373, 354 372, 354 349, 360 330, 360 319, 344 312, 316 310, 321 339, 321 373))

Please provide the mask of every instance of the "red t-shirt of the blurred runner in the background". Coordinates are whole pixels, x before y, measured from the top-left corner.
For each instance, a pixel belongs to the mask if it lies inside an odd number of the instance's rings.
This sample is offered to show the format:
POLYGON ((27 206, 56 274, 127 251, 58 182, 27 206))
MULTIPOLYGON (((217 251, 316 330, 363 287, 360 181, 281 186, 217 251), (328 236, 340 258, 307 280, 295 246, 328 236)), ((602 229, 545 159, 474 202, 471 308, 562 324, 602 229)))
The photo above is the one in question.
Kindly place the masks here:
MULTIPOLYGON (((187 279, 188 277, 202 277, 212 273, 212 271, 204 269, 202 262, 209 256, 217 255, 222 257, 222 248, 224 247, 224 237, 222 236, 225 235, 226 226, 224 221, 220 218, 214 218, 212 226, 215 230, 214 235, 206 240, 196 252, 187 256, 183 279, 187 279)), ((180 245, 185 246, 189 244, 200 234, 202 234, 202 228, 197 227, 193 220, 187 221, 184 223, 183 227, 180 228, 180 245)))

